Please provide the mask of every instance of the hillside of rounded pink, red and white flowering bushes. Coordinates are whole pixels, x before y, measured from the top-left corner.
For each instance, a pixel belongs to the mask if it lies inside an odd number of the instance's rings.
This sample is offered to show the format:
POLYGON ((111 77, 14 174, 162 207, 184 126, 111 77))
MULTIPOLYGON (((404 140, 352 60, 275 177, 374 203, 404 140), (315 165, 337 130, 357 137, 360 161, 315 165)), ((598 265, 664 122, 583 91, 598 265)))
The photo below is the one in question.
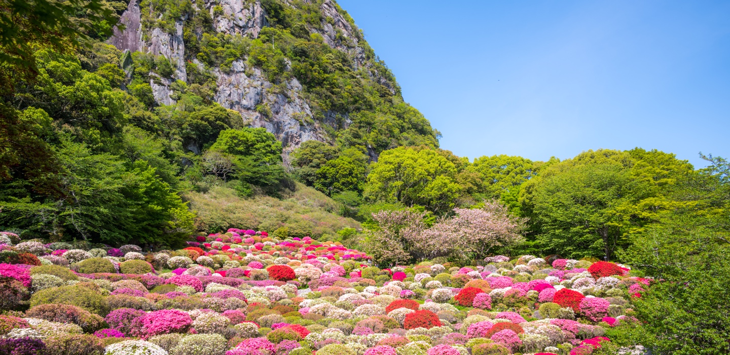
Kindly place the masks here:
POLYGON ((582 355, 648 285, 529 255, 380 269, 243 229, 154 253, 2 232, 0 258, 0 354, 18 355, 582 355))

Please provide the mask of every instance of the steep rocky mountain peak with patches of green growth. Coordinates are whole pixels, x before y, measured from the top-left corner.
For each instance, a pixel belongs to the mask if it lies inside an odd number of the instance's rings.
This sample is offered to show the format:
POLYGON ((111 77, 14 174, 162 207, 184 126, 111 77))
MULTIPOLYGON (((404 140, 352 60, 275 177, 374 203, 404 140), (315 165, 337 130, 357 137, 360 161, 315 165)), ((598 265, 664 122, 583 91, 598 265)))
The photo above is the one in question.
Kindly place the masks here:
MULTIPOLYGON (((439 133, 403 102, 393 73, 335 1, 131 0, 119 23, 108 43, 172 66, 150 72, 157 104, 177 102, 177 80, 207 87, 241 126, 274 134, 285 164, 307 140, 358 146, 371 161, 399 145, 438 146, 439 133)), ((123 55, 128 75, 131 58, 123 55)))

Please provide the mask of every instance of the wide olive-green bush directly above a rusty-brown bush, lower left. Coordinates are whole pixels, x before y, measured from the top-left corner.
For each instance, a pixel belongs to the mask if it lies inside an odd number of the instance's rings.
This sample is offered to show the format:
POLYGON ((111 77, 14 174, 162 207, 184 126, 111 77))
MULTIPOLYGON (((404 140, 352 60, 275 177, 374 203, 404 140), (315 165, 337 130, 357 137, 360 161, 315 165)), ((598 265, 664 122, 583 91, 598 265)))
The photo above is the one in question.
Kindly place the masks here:
POLYGON ((33 294, 31 307, 52 303, 75 305, 99 316, 106 316, 110 310, 109 304, 99 291, 99 286, 94 283, 77 283, 73 286, 45 289, 33 294))

